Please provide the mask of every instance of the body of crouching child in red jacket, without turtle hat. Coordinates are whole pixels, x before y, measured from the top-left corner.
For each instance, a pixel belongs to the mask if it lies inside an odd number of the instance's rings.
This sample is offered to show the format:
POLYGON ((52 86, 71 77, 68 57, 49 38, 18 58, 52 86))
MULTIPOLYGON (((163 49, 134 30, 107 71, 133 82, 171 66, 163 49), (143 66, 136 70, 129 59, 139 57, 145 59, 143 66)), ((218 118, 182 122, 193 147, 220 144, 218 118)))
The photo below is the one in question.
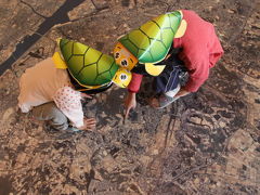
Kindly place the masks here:
MULTIPOLYGON (((151 105, 156 108, 162 108, 180 96, 196 92, 208 79, 209 69, 223 54, 213 25, 204 21, 193 11, 182 10, 181 12, 187 25, 184 35, 173 39, 172 49, 181 49, 178 57, 187 69, 188 80, 185 86, 177 84, 174 89, 164 91, 159 99, 152 99, 151 105)), ((129 93, 125 102, 126 117, 129 110, 136 106, 135 94, 140 89, 142 78, 143 75, 135 73, 132 75, 132 80, 128 87, 129 93)), ((170 79, 171 75, 168 80, 170 79)), ((169 84, 169 82, 166 83, 169 84)))

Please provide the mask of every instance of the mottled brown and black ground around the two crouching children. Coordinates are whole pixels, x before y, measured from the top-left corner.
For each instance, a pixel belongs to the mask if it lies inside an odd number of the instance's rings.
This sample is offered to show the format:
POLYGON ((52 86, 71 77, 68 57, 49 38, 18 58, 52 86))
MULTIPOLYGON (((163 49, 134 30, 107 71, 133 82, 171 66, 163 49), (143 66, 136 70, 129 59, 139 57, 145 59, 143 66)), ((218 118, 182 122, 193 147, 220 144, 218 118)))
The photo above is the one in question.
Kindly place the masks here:
POLYGON ((0 194, 260 194, 259 2, 72 2, 0 1, 0 194), (197 93, 155 110, 141 91, 123 122, 126 90, 112 88, 83 103, 94 132, 56 132, 17 109, 21 75, 56 38, 110 53, 117 37, 177 9, 213 23, 225 51, 197 93))

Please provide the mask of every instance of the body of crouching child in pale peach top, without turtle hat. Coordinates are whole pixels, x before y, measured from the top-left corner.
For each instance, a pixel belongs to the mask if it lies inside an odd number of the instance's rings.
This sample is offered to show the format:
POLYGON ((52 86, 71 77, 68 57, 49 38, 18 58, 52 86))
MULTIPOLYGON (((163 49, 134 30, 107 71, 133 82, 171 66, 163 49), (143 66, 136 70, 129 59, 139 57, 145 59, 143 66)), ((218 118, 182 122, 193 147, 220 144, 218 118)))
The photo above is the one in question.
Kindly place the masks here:
POLYGON ((94 128, 95 119, 83 117, 80 102, 90 96, 74 89, 67 70, 55 68, 52 57, 26 69, 20 89, 18 106, 23 113, 32 109, 34 118, 48 120, 57 130, 67 130, 68 119, 79 130, 94 128))

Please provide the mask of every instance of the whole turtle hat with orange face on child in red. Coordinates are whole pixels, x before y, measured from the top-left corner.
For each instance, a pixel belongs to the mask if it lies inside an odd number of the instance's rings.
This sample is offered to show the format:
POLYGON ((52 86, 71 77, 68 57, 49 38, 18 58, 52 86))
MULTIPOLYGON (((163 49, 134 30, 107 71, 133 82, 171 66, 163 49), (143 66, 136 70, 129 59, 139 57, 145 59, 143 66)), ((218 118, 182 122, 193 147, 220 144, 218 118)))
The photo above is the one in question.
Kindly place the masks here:
POLYGON ((185 34, 186 26, 182 11, 148 21, 118 39, 114 49, 116 63, 128 70, 144 65, 150 75, 159 75, 165 68, 159 62, 166 58, 173 39, 185 34))

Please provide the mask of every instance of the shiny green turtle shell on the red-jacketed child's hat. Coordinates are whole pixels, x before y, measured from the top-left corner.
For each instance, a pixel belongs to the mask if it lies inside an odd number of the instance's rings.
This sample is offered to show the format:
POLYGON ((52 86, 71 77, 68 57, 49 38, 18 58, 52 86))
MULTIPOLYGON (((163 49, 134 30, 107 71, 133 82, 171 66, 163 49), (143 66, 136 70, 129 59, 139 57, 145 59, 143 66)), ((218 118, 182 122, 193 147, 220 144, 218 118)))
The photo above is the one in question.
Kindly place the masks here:
POLYGON ((169 12, 143 24, 119 39, 140 63, 158 63, 170 50, 181 24, 179 11, 169 12))

